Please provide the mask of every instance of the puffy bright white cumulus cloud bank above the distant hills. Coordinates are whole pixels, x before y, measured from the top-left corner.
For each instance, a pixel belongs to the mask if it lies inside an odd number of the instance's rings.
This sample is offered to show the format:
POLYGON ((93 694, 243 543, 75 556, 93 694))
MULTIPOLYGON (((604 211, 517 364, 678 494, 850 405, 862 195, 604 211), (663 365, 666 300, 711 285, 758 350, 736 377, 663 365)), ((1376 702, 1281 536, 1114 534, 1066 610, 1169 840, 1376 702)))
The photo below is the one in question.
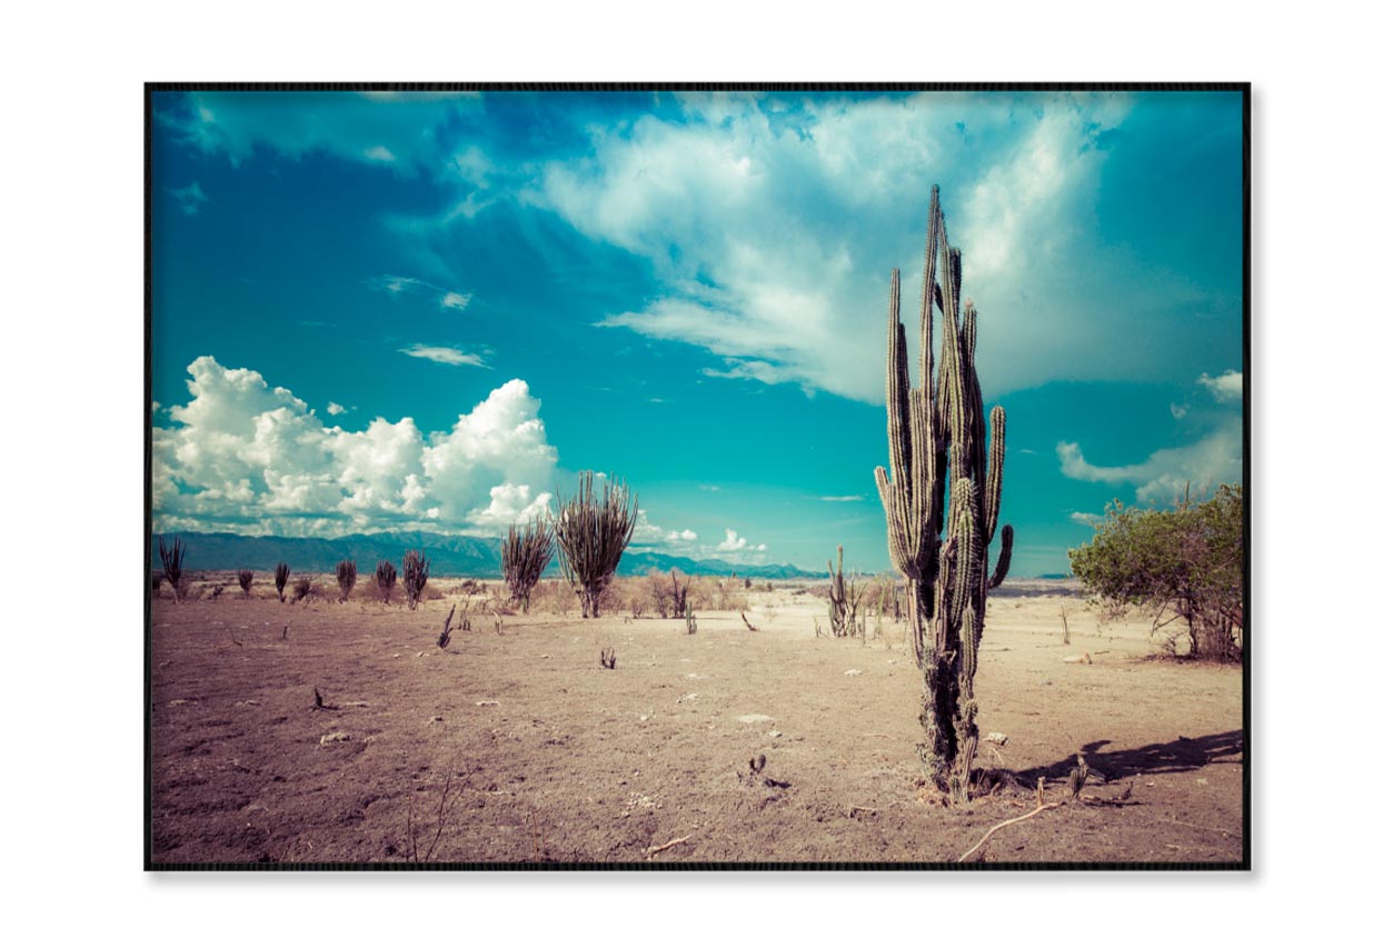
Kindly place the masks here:
POLYGON ((554 477, 556 448, 521 379, 449 432, 423 433, 411 418, 352 432, 251 369, 202 356, 188 372, 191 400, 153 429, 156 529, 493 535, 550 500, 539 486, 554 477))

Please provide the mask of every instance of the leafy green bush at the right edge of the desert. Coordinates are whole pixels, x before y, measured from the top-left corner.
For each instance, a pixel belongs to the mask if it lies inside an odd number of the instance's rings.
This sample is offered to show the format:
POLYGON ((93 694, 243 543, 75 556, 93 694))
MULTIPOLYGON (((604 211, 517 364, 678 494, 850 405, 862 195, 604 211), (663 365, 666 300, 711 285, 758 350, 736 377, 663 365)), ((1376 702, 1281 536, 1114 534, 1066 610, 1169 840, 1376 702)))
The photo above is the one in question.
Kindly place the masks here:
MULTIPOLYGON (((1188 654, 1233 661, 1241 654, 1244 601, 1243 486, 1206 501, 1187 496, 1170 509, 1113 501, 1094 539, 1068 551, 1092 601, 1110 611, 1155 610, 1152 631, 1181 622, 1188 654)), ((1178 636, 1173 636, 1170 642, 1178 636)))

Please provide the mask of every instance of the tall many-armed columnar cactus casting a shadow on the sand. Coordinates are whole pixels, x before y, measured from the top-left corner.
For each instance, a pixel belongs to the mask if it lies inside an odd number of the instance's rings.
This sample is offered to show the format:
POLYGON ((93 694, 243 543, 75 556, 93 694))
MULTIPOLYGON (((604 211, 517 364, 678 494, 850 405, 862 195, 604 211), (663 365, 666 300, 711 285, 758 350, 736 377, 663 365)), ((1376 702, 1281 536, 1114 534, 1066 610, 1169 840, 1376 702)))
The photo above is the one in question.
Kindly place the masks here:
POLYGON ((876 468, 890 561, 910 593, 914 657, 924 674, 925 741, 919 755, 933 781, 965 802, 976 755, 972 678, 982 642, 986 590, 999 586, 1011 561, 1013 530, 1002 528, 996 569, 988 546, 1002 511, 1006 412, 982 411, 976 380, 976 309, 960 303, 963 253, 949 245, 939 188, 929 199, 919 294, 919 384, 910 383, 900 271, 890 271, 886 416, 890 472, 876 468), (943 315, 937 376, 933 369, 933 308, 943 315), (986 427, 990 425, 990 451, 986 427))

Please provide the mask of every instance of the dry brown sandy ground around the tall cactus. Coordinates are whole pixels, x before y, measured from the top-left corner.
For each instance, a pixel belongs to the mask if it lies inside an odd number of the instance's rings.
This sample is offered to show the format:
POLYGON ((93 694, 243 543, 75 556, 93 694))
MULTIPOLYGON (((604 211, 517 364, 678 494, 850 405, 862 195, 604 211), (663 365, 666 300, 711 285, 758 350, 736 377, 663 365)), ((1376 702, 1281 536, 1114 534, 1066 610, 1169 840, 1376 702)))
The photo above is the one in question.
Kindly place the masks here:
POLYGON ((1024 785, 957 809, 919 781, 905 626, 815 638, 826 603, 804 587, 751 593, 758 632, 737 613, 698 613, 695 635, 535 613, 501 633, 475 618, 444 650, 458 596, 408 611, 230 589, 153 604, 155 864, 942 863, 1035 809, 1041 775, 1066 803, 972 860, 1243 858, 1241 670, 1156 658, 1149 622, 1100 625, 1061 585, 989 603, 979 725, 1007 742, 979 763, 1024 785), (1106 780, 1074 800, 1078 749, 1106 780))

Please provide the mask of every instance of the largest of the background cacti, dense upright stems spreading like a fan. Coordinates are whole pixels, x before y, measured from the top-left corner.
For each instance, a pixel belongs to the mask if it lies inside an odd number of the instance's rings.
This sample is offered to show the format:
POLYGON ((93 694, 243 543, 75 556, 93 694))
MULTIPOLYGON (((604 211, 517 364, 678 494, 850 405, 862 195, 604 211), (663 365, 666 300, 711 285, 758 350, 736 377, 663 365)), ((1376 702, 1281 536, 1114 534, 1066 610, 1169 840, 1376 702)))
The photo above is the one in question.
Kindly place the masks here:
POLYGON ((624 548, 638 522, 638 497, 613 479, 595 494, 595 473, 581 475, 579 490, 570 501, 557 500, 553 518, 561 571, 581 596, 581 615, 598 618, 600 594, 614 578, 624 548))

